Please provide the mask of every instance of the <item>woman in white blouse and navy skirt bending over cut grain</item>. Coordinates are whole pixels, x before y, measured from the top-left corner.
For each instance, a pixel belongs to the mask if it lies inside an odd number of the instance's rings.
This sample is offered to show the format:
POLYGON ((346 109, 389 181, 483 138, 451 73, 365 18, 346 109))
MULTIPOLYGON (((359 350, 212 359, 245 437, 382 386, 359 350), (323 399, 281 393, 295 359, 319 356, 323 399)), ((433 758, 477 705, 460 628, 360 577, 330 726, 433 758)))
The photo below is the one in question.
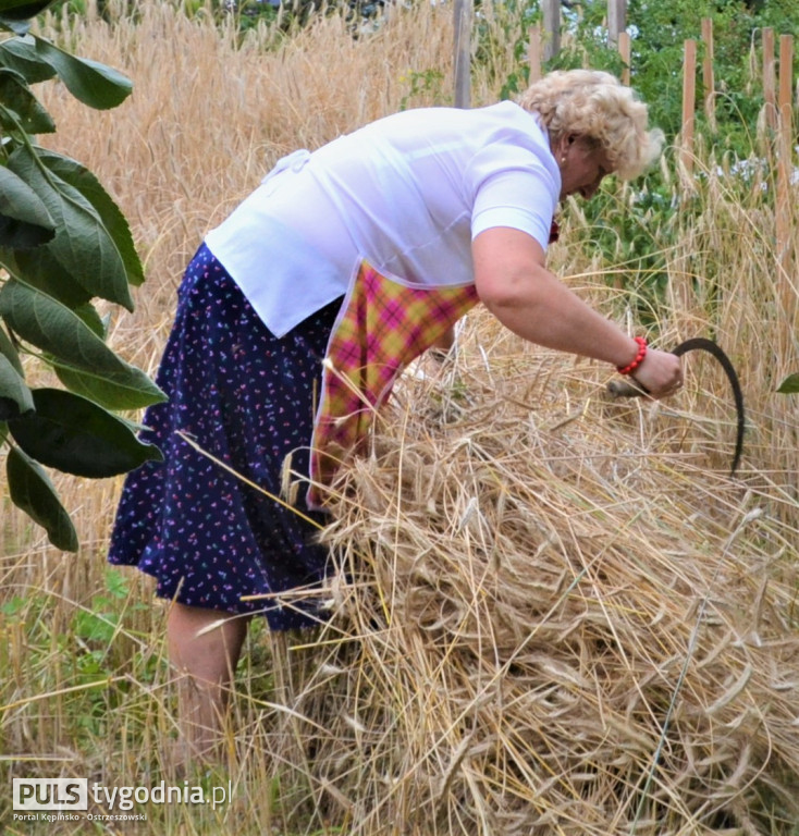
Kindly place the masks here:
POLYGON ((190 686, 195 750, 212 746, 249 616, 314 623, 312 606, 280 594, 324 575, 324 487, 403 366, 470 306, 634 373, 653 397, 680 384, 676 357, 545 267, 558 200, 657 157, 647 119, 629 88, 582 70, 545 76, 518 103, 397 113, 284 158, 208 234, 159 371, 170 402, 145 418, 165 460, 128 476, 109 557, 174 602, 169 649, 190 686), (278 496, 290 454, 310 476, 296 511, 247 483, 278 496))

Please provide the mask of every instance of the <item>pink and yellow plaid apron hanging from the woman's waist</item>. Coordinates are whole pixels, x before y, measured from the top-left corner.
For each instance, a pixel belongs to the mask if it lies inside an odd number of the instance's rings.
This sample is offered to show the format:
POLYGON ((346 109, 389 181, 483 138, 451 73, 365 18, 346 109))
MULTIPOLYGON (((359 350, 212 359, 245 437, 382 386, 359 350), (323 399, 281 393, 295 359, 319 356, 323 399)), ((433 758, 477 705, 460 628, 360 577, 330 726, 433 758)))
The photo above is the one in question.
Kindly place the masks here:
POLYGON ((366 438, 403 369, 477 302, 474 285, 409 286, 361 261, 328 343, 311 440, 310 507, 321 505, 321 489, 366 438))

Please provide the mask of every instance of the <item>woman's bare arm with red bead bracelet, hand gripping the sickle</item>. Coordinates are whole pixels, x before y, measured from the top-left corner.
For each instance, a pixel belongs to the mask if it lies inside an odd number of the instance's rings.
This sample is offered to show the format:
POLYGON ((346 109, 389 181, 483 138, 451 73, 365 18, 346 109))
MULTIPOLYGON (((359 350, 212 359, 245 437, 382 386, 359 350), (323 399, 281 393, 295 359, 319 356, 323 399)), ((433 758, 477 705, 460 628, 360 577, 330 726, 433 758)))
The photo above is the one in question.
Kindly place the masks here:
MULTIPOLYGON (((541 245, 504 226, 485 230, 471 245, 481 302, 514 333, 532 343, 627 366, 638 344, 551 273, 541 245)), ((650 348, 635 373, 654 397, 681 382, 679 358, 650 348)))

